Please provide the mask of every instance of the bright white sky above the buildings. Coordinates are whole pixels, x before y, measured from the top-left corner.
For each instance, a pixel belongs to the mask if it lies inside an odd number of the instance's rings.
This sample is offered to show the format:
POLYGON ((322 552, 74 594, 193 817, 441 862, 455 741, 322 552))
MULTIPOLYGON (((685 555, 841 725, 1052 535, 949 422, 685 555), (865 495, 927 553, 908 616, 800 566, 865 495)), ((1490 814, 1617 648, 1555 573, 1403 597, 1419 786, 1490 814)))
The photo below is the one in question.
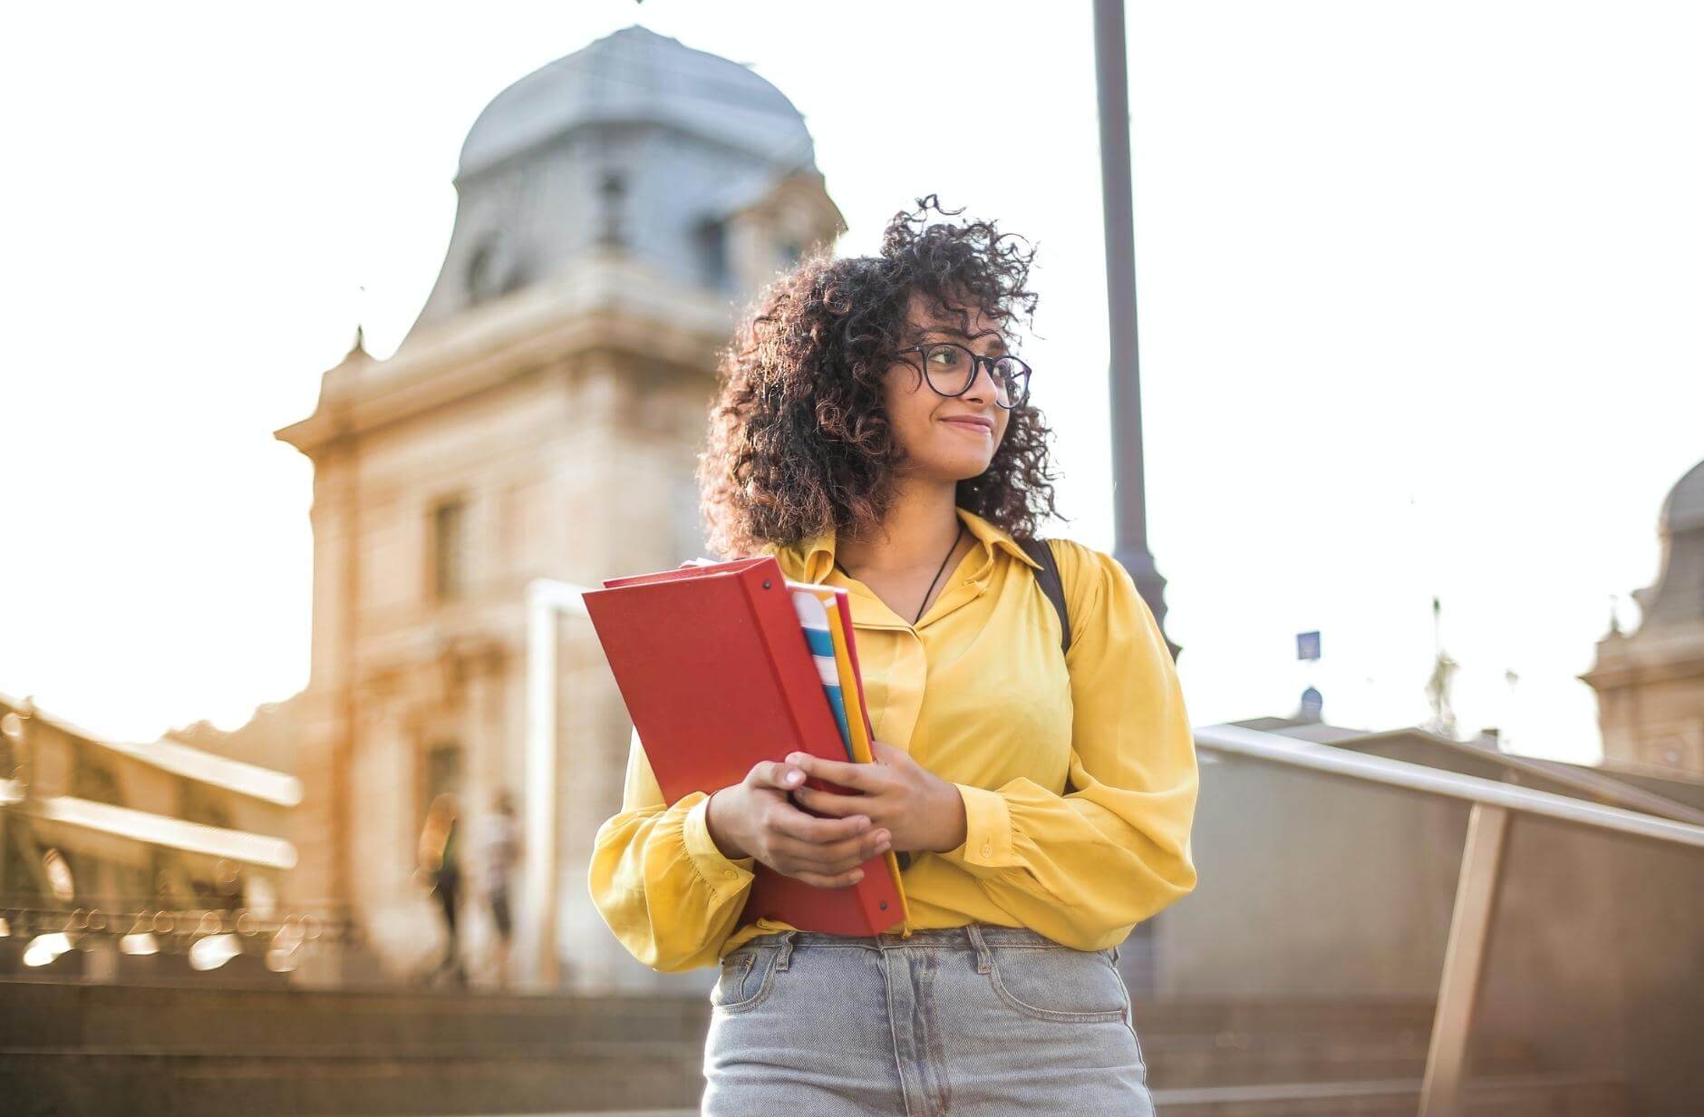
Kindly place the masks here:
MULTIPOLYGON (((1593 759, 1574 675, 1610 595, 1638 624, 1704 457, 1704 5, 1126 19, 1191 718, 1314 682, 1331 721, 1425 720, 1436 593, 1462 726, 1593 759)), ((305 686, 312 469, 271 431, 356 321, 378 356, 407 331, 481 107, 634 22, 792 99, 842 251, 930 191, 1038 244, 1060 530, 1111 549, 1087 0, 27 5, 0 38, 0 691, 152 738, 305 686)))

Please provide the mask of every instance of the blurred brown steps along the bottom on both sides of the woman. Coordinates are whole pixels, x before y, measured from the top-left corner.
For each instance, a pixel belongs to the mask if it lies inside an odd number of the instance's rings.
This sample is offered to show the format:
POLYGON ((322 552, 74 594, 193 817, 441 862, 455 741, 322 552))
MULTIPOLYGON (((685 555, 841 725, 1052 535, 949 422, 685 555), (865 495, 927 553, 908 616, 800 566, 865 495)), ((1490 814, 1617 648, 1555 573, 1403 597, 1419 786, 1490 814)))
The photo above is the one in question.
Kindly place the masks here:
MULTIPOLYGON (((0 1098, 9 1117, 685 1117, 707 1022, 702 998, 0 981, 0 1098)), ((1166 1117, 1413 1117, 1430 1027, 1425 1003, 1137 1006, 1166 1117)), ((1621 1083, 1546 1074, 1522 1049, 1477 1066, 1471 1114, 1629 1114, 1621 1083)))

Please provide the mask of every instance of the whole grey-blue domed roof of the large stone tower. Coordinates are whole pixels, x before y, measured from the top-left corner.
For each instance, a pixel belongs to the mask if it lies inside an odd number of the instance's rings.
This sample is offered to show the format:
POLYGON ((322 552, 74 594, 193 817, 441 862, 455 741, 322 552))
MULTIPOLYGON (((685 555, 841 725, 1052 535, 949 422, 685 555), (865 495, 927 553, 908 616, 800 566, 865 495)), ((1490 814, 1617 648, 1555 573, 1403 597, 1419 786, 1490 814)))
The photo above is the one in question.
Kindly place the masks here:
POLYGON ((619 258, 731 297, 736 271, 843 227, 792 102, 746 67, 644 27, 498 94, 462 143, 455 193, 443 266, 404 346, 574 261, 619 258))

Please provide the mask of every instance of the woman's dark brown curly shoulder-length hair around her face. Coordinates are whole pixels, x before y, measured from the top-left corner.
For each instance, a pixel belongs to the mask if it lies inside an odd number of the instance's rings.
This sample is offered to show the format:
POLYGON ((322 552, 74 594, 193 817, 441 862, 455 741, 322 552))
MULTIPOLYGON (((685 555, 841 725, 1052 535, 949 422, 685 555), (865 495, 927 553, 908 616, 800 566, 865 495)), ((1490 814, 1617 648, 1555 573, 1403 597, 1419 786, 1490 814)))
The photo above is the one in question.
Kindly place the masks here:
MULTIPOLYGON (((993 222, 925 223, 935 194, 895 213, 879 256, 804 258, 758 293, 722 351, 709 438, 699 455, 707 542, 722 556, 799 546, 833 527, 874 532, 895 498, 905 450, 883 406, 883 373, 913 293, 970 331, 968 307, 1007 329, 1034 322, 1026 290, 1034 249, 993 222)), ((1028 240, 1024 242, 1028 244, 1028 240)), ((918 375, 922 375, 918 372, 918 375)), ((958 483, 956 503, 1019 539, 1053 515, 1051 431, 1028 401, 1012 408, 988 469, 958 483)))

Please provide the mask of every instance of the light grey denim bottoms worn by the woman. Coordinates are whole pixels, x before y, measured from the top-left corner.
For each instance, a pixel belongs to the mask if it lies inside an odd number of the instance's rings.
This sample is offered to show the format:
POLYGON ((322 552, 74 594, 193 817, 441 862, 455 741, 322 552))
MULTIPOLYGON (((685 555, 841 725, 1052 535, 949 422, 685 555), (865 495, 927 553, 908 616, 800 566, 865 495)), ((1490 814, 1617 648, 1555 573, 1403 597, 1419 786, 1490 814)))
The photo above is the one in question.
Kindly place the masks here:
POLYGON ((1118 948, 782 931, 711 991, 704 1117, 1152 1117, 1118 948))

